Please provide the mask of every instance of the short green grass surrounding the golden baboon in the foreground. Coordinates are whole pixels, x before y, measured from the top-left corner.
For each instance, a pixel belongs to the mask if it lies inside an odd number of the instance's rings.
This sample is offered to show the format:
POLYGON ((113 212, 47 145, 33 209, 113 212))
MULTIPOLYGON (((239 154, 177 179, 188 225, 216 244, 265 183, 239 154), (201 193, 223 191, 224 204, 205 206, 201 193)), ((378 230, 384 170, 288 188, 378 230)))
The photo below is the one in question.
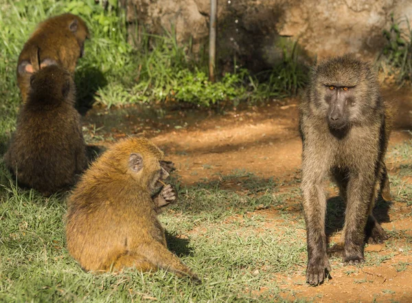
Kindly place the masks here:
MULTIPOLYGON (((1 175, 10 181, 3 167, 1 175)), ((85 273, 65 248, 65 194, 45 199, 3 182, 0 302, 285 302, 273 275, 304 267, 304 230, 266 226, 264 216, 251 212, 273 202, 275 183, 244 172, 222 182, 239 179, 242 194, 222 190, 220 182, 182 187, 179 203, 161 215, 170 248, 201 285, 165 271, 85 273)))

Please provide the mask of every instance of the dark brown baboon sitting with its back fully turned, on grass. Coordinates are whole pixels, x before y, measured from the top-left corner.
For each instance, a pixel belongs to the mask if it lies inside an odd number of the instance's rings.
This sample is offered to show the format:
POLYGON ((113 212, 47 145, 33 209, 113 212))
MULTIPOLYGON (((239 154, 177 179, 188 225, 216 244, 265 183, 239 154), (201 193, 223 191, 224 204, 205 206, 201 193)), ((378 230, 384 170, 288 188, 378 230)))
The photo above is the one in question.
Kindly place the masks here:
POLYGON ((86 150, 71 75, 49 65, 30 82, 4 159, 19 185, 49 195, 76 181, 87 165, 86 150))

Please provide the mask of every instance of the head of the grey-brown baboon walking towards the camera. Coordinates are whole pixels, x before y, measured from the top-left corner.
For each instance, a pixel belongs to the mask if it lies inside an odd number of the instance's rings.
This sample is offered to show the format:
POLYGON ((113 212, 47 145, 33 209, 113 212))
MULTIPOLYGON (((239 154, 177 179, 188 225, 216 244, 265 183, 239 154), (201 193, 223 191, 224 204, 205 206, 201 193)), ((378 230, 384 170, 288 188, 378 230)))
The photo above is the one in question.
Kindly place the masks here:
POLYGON ((324 119, 331 131, 363 124, 381 102, 376 73, 351 55, 314 67, 308 93, 312 113, 324 119))

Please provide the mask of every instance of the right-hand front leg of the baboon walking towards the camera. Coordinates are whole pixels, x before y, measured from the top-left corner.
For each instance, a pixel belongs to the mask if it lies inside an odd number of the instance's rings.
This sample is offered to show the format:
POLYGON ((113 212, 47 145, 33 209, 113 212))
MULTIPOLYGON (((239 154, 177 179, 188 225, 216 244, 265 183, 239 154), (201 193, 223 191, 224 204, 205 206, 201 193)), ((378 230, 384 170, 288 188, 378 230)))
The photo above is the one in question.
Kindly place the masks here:
POLYGON ((368 175, 365 170, 351 175, 347 183, 343 262, 350 264, 364 261, 365 227, 376 199, 374 172, 368 175))

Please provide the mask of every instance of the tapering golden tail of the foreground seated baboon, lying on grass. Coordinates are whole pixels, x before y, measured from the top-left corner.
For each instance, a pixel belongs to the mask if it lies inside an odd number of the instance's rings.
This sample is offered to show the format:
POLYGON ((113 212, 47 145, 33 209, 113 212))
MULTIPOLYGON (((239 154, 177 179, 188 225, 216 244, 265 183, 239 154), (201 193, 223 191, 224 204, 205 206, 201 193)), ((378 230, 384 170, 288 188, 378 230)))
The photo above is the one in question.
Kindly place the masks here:
POLYGON ((141 251, 146 251, 146 258, 157 265, 157 267, 176 273, 179 277, 189 276, 195 282, 200 282, 196 273, 193 273, 189 267, 184 265, 179 258, 165 247, 162 243, 152 241, 145 245, 141 251))

